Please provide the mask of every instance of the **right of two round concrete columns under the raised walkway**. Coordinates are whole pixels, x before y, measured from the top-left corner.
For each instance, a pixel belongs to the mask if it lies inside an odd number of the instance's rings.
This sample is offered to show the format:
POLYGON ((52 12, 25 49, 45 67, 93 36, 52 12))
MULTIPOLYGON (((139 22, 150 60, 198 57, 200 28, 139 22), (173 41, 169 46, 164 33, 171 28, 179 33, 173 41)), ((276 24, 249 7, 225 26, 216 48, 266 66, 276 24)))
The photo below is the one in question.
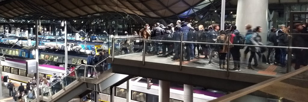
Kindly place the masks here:
POLYGON ((184 84, 184 102, 193 102, 193 86, 184 84))

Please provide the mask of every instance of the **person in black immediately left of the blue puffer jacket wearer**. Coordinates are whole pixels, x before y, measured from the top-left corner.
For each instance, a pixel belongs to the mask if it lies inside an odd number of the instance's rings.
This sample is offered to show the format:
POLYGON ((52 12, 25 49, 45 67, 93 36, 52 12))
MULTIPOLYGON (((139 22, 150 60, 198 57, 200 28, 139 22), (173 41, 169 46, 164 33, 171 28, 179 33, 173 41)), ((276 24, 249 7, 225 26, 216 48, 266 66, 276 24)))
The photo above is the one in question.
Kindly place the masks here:
MULTIPOLYGON (((181 26, 180 25, 177 25, 174 30, 174 34, 173 34, 173 40, 174 41, 181 41, 181 32, 180 32, 180 28, 181 26)), ((177 60, 180 58, 180 51, 181 51, 181 46, 180 46, 180 43, 174 43, 174 57, 173 57, 173 60, 177 60)))

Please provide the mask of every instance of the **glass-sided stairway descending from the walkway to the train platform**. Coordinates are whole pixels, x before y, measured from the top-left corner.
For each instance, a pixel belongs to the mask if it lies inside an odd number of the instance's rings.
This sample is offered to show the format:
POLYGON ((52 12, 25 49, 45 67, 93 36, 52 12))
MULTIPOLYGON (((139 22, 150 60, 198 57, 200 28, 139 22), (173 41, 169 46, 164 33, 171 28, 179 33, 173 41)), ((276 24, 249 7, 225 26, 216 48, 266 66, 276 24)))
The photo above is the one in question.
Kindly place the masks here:
MULTIPOLYGON (((50 86, 40 85, 39 96, 35 96, 46 102, 68 102, 75 97, 80 99, 92 91, 102 92, 110 86, 121 85, 134 77, 112 73, 111 69, 103 72, 96 71, 95 67, 97 68, 104 60, 93 66, 83 64, 76 66, 75 70, 71 70, 69 74, 57 79, 50 86), (94 69, 93 77, 88 77, 90 73, 85 71, 88 68, 94 69)), ((36 99, 31 100, 31 102, 36 101, 36 99)))

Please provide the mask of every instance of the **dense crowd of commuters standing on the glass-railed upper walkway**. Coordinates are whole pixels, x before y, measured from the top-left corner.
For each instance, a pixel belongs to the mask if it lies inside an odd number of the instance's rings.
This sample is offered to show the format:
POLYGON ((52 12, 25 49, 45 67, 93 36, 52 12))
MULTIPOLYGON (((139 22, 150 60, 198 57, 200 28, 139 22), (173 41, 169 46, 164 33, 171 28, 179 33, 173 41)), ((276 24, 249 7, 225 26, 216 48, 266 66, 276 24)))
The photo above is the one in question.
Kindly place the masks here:
MULTIPOLYGON (((172 23, 167 27, 161 25, 160 23, 154 24, 152 28, 148 24, 140 30, 140 36, 143 39, 152 39, 152 40, 173 40, 173 41, 189 41, 189 42, 205 42, 205 43, 225 43, 223 44, 196 44, 196 43, 183 43, 182 54, 183 57, 180 58, 181 54, 181 43, 169 43, 169 42, 158 42, 158 41, 147 41, 145 44, 145 53, 152 53, 154 55, 160 55, 167 57, 173 56, 173 60, 186 59, 186 61, 191 61, 195 58, 200 58, 200 55, 205 55, 203 59, 208 59, 209 65, 215 65, 212 61, 212 58, 216 53, 218 53, 219 58, 219 69, 226 69, 226 57, 233 58, 234 67, 231 70, 241 71, 241 49, 244 49, 244 57, 250 52, 248 59, 247 69, 254 70, 253 67, 258 66, 258 59, 261 59, 263 55, 267 54, 267 63, 266 64, 280 64, 282 67, 286 67, 286 48, 268 48, 261 47, 262 45, 267 46, 282 46, 282 47, 308 47, 308 24, 294 24, 294 33, 293 34, 292 45, 289 45, 290 29, 285 25, 280 25, 281 28, 276 30, 272 28, 270 33, 267 34, 267 43, 262 43, 262 36, 265 33, 261 33, 263 28, 257 26, 252 28, 252 25, 245 25, 246 31, 245 35, 241 34, 237 30, 237 26, 232 25, 227 27, 225 30, 220 30, 220 25, 213 24, 208 28, 204 28, 203 25, 199 25, 194 28, 192 23, 177 21, 176 26, 172 23), (181 36, 182 35, 182 36, 181 36), (162 43, 161 45, 159 43, 162 43), (243 45, 260 45, 253 47, 245 46, 232 46, 228 44, 243 44, 243 45), (196 50, 197 48, 197 50, 196 50), (162 53, 159 53, 160 50, 162 53), (197 52, 197 55, 196 55, 197 52), (229 52, 229 54, 228 54, 229 52), (252 60, 254 64, 252 65, 252 60)), ((142 43, 140 43, 141 45, 142 43)), ((308 63, 308 54, 305 49, 294 49, 294 55, 296 56, 295 69, 298 69, 300 65, 307 66, 308 63)))

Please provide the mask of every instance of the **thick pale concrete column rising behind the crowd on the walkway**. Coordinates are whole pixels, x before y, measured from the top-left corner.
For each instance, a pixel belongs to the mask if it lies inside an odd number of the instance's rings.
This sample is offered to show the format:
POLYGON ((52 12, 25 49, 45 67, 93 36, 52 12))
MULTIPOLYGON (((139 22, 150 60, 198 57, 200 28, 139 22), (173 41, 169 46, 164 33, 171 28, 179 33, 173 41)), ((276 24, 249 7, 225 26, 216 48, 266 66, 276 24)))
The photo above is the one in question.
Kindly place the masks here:
MULTIPOLYGON (((238 0, 236 26, 239 32, 246 32, 245 25, 251 24, 253 28, 261 26, 263 28, 261 37, 265 44, 268 28, 268 0, 238 0)), ((245 34, 243 34, 245 35, 245 34)))

